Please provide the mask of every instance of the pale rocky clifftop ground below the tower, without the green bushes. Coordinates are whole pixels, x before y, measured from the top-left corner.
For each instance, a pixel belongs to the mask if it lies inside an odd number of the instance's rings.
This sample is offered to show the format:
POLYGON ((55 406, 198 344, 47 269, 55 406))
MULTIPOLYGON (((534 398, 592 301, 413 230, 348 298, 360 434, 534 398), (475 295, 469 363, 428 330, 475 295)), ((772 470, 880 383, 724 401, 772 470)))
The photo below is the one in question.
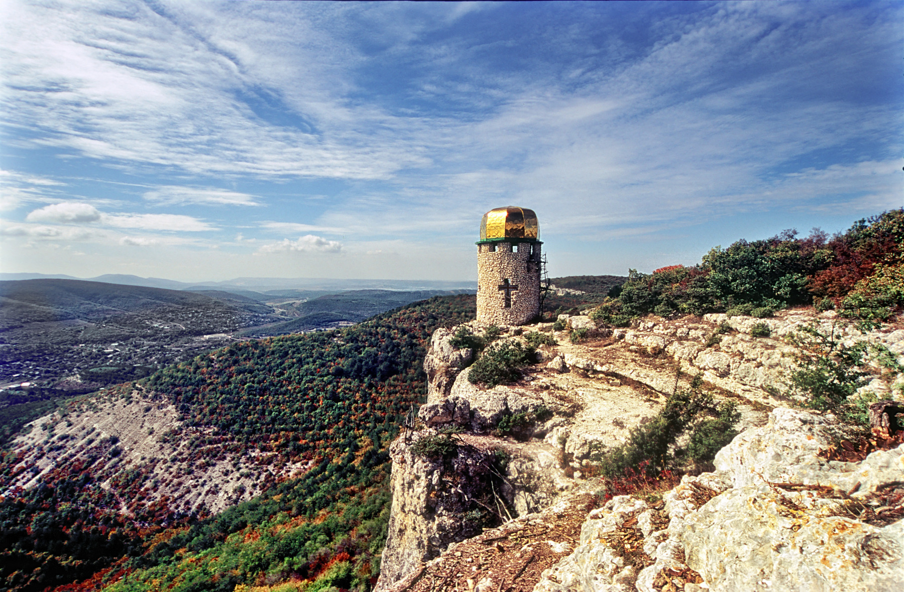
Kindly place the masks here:
MULTIPOLYGON (((570 343, 551 324, 507 328, 504 339, 541 331, 558 344, 543 346, 543 362, 521 381, 494 389, 467 381, 473 352, 451 346, 455 328, 434 334, 423 428, 391 450, 393 509, 378 590, 899 589, 904 451, 827 460, 819 455, 837 440, 835 418, 788 409, 795 401, 781 393, 798 355, 785 335, 815 324, 848 345, 880 344, 904 363, 901 326, 863 333, 812 310, 770 319, 650 318, 614 331, 587 316, 562 320, 589 329, 589 339, 570 343), (768 337, 751 334, 758 324, 768 337), (594 451, 624 441, 698 373, 707 390, 742 411, 741 433, 720 451, 716 471, 685 476, 660 503, 620 496, 595 507, 594 451), (530 433, 500 437, 502 418, 538 410, 552 417, 530 433), (506 522, 497 529, 475 536, 461 512, 492 480, 469 481, 466 471, 412 449, 449 426, 465 430, 458 437, 472 446, 472 465, 497 451, 512 459, 494 496, 513 516, 499 512, 506 522), (460 493, 457 507, 449 484, 460 493)), ((902 383, 901 374, 885 372, 864 390, 890 398, 902 383)))

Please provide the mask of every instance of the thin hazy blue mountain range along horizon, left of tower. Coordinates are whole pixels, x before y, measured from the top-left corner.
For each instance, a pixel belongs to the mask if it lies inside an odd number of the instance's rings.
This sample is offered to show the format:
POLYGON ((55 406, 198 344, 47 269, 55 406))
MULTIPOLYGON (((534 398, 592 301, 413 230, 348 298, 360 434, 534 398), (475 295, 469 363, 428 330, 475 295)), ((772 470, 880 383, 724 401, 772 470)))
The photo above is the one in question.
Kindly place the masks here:
POLYGON ((470 280, 437 281, 405 279, 333 279, 328 277, 236 277, 221 282, 179 282, 162 277, 138 277, 125 274, 104 274, 98 277, 74 277, 65 274, 0 273, 0 280, 16 279, 81 279, 122 286, 162 287, 169 290, 225 290, 241 296, 255 297, 249 292, 266 296, 277 290, 315 290, 335 292, 344 290, 476 290, 477 282, 470 280))

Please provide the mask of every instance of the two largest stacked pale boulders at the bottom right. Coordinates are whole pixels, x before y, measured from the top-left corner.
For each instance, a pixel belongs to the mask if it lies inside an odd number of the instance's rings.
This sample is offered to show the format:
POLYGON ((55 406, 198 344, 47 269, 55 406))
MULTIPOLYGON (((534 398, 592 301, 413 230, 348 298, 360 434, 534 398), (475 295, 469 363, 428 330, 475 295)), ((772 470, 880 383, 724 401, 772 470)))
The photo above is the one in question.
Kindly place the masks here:
POLYGON ((900 589, 900 522, 877 528, 833 516, 843 513, 838 500, 819 499, 815 492, 783 493, 764 481, 833 485, 842 491, 860 482, 856 497, 904 475, 901 447, 873 453, 862 463, 816 456, 831 443, 830 423, 805 411, 775 409, 766 427, 749 429, 720 450, 716 474, 686 479, 666 493, 669 540, 683 546, 687 565, 711 589, 900 589), (694 508, 683 494, 692 482, 721 493, 694 508), (802 509, 789 509, 785 500, 802 509))

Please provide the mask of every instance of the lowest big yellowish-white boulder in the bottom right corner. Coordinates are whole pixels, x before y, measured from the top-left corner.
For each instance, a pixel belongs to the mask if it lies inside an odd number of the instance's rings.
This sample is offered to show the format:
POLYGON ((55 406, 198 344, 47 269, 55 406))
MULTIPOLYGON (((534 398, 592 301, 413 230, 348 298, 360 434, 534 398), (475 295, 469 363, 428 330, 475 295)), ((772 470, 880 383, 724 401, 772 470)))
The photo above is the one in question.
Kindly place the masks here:
POLYGON ((900 589, 900 536, 845 518, 795 513, 768 487, 735 488, 670 532, 713 589, 900 589))

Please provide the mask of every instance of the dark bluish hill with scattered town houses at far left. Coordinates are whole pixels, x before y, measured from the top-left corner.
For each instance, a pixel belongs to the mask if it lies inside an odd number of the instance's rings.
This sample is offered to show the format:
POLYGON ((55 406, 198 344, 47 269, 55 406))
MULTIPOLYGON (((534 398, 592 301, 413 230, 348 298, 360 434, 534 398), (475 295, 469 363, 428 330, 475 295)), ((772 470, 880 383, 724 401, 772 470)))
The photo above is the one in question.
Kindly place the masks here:
MULTIPOLYGON (((71 279, 0 282, 0 382, 85 392, 211 349, 205 334, 281 320, 250 298, 71 279), (78 373, 80 380, 60 383, 78 373)), ((28 394, 28 393, 25 393, 28 394)))

